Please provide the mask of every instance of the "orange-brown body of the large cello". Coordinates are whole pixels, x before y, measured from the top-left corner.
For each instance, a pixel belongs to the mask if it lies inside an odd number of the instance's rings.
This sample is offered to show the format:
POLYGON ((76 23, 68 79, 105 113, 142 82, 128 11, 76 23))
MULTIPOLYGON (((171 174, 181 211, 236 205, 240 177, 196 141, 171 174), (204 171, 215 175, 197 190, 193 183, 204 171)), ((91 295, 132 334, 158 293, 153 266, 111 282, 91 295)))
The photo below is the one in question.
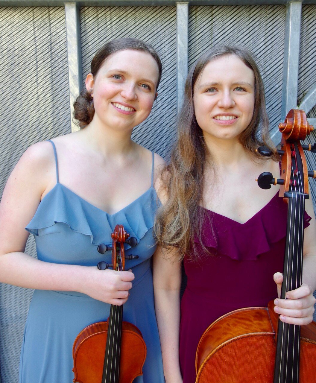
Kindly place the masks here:
MULTIPOLYGON (((268 307, 223 315, 196 351, 196 383, 273 383, 278 314, 268 307)), ((315 381, 316 323, 301 326, 300 383, 315 381)))

